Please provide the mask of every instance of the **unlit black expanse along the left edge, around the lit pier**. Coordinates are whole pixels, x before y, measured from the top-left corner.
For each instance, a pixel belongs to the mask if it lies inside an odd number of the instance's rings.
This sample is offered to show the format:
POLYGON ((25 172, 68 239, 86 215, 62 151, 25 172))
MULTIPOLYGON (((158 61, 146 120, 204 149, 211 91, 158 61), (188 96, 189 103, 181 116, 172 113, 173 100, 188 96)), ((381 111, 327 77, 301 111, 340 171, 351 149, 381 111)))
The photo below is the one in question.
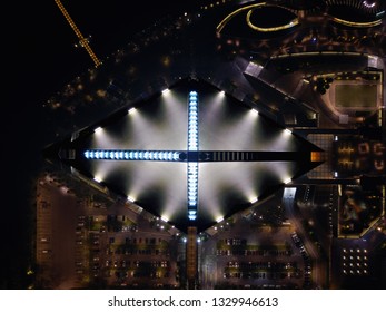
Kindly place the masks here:
MULTIPOLYGON (((30 262, 32 186, 42 164, 46 130, 42 104, 93 66, 86 50, 73 47, 78 39, 55 0, 24 2, 12 1, 3 11, 10 22, 3 26, 2 38, 6 114, 1 159, 6 175, 1 192, 0 289, 26 286, 22 276, 30 262)), ((125 47, 157 18, 208 1, 62 0, 82 35, 92 35, 90 46, 101 59, 125 47)))

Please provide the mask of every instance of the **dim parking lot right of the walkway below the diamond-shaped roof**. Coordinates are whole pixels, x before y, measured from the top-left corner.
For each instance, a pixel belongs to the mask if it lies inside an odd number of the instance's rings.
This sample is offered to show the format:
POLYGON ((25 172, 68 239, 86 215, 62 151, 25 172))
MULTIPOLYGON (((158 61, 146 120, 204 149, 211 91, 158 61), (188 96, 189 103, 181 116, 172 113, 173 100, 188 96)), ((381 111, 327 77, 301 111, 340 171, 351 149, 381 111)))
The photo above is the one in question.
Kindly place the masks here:
POLYGON ((256 228, 241 218, 202 248, 208 287, 303 289, 311 282, 311 261, 293 226, 256 228))

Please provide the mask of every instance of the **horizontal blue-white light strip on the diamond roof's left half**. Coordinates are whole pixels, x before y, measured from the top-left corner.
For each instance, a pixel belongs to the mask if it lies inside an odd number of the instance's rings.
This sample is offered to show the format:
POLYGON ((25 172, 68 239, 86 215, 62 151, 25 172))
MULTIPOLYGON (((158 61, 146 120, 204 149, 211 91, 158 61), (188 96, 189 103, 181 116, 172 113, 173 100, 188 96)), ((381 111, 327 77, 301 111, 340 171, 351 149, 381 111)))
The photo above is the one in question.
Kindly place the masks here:
POLYGON ((155 160, 180 162, 180 152, 174 150, 128 150, 128 149, 88 149, 87 159, 100 160, 155 160))

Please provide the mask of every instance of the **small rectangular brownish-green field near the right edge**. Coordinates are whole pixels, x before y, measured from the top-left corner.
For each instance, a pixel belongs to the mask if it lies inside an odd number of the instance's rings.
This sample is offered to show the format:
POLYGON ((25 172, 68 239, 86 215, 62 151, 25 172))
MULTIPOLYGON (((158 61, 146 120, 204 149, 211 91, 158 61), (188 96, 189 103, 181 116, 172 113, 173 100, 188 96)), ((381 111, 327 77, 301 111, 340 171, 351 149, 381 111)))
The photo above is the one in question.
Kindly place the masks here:
POLYGON ((337 85, 335 86, 336 107, 376 107, 376 85, 337 85))

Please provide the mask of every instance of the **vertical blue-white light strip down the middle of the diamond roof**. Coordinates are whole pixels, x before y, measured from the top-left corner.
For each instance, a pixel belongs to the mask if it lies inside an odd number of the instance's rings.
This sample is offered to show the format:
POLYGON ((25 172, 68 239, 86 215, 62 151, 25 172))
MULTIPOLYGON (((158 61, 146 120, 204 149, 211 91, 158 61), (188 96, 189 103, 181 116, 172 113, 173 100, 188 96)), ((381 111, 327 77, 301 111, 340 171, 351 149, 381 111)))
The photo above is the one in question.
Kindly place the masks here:
POLYGON ((198 162, 189 160, 189 152, 198 152, 198 97, 189 92, 188 101, 188 218, 195 221, 198 207, 198 162))

